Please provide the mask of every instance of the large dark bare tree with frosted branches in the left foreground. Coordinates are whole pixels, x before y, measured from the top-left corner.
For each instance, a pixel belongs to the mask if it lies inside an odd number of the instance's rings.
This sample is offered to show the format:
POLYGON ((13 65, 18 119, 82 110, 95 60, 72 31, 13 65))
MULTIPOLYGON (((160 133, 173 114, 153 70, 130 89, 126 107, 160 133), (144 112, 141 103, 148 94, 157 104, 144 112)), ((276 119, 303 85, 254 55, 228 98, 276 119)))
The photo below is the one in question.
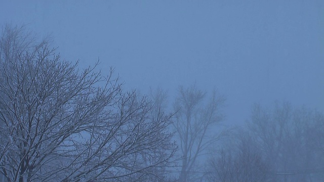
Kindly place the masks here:
POLYGON ((0 39, 0 173, 8 181, 150 181, 175 152, 171 114, 111 69, 61 61, 23 28, 0 39))

